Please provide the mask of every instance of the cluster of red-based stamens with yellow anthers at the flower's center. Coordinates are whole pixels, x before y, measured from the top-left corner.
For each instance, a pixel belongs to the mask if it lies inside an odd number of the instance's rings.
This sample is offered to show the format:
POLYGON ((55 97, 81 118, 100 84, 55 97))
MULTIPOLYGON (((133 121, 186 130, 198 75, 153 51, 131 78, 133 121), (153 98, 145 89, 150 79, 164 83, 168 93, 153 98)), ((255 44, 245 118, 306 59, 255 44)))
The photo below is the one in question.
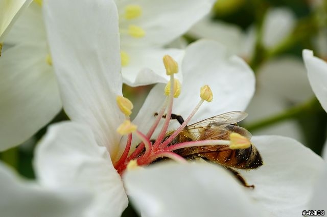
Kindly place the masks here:
POLYGON ((119 172, 119 174, 122 174, 126 169, 149 165, 151 162, 162 157, 171 158, 179 162, 185 162, 186 160, 182 156, 174 152, 175 150, 182 148, 223 145, 229 146, 230 149, 240 149, 248 148, 251 145, 248 139, 238 133, 231 133, 229 140, 197 140, 196 138, 188 138, 187 140, 178 139, 180 138, 180 133, 182 133, 185 126, 190 122, 192 117, 199 110, 201 104, 204 101, 212 101, 213 94, 207 85, 201 88, 201 99, 189 117, 186 118, 185 121, 181 123, 181 125, 175 131, 167 133, 169 122, 172 116, 173 99, 179 96, 181 85, 178 80, 174 78, 174 73, 178 72, 177 63, 171 57, 168 59, 165 57, 164 63, 167 69, 167 74, 170 75, 170 82, 165 88, 165 94, 167 95, 167 98, 147 134, 138 131, 137 126, 130 122, 129 115, 131 114, 131 109, 133 107, 131 102, 122 96, 117 97, 118 106, 126 116, 125 122, 120 125, 117 131, 121 134, 127 135, 128 137, 126 148, 123 154, 118 161, 114 162, 114 168, 119 172), (164 116, 165 112, 166 115, 164 116), (164 125, 162 126, 157 139, 155 141, 151 140, 152 134, 157 128, 162 117, 166 118, 164 125), (136 135, 139 139, 141 139, 142 142, 136 146, 134 151, 129 153, 132 134, 136 135))

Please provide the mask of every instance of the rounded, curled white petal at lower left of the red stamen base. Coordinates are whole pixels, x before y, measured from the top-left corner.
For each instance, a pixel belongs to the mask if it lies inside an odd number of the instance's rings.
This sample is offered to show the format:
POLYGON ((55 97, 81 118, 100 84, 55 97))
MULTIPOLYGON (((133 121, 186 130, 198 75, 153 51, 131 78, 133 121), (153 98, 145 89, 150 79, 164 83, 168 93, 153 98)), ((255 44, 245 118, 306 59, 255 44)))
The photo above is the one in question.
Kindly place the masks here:
POLYGON ((80 187, 94 193, 88 216, 120 216, 127 206, 121 177, 86 126, 52 125, 37 146, 35 168, 44 186, 80 187))

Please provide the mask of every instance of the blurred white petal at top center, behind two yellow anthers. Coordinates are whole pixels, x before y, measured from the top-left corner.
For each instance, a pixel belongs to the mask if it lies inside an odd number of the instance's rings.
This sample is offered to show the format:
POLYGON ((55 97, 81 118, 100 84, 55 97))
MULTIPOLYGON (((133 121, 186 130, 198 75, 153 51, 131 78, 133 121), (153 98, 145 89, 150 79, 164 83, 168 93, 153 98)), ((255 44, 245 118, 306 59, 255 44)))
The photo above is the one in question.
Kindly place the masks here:
MULTIPOLYGON (((118 6, 120 14, 127 4, 135 4, 133 1, 125 3, 118 6)), ((213 0, 138 1, 137 4, 142 7, 143 14, 132 23, 145 30, 145 37, 132 38, 127 34, 122 34, 122 47, 165 45, 185 33, 209 13, 214 3, 213 0)), ((120 22, 120 28, 123 27, 120 22)))

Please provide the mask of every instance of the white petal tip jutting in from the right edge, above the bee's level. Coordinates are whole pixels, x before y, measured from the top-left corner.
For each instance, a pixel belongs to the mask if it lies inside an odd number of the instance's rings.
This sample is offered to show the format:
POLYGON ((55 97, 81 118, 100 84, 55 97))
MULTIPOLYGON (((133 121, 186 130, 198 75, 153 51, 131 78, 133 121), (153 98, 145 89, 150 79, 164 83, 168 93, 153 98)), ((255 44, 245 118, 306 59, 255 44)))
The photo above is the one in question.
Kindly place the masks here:
POLYGON ((311 50, 303 50, 302 56, 307 68, 311 88, 323 109, 327 111, 327 63, 314 57, 311 50))

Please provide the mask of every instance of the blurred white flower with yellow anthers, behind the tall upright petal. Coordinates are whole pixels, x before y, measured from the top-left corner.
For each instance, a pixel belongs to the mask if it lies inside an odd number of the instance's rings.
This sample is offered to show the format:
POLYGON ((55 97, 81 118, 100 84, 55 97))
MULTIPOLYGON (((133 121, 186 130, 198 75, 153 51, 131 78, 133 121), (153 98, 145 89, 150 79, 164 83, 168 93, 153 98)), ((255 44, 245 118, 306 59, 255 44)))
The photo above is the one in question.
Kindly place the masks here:
MULTIPOLYGON (((122 69, 124 81, 129 85, 166 82, 165 68, 160 61, 162 56, 169 53, 181 60, 184 51, 164 46, 208 13, 213 3, 213 0, 116 1, 125 58, 123 65, 126 65, 122 69), (130 9, 131 6, 134 9, 130 9), (126 18, 135 11, 139 11, 137 16, 126 18), (133 37, 141 30, 132 28, 134 32, 131 32, 130 26, 142 28, 145 35, 133 37)), ((16 46, 6 50, 5 57, 0 59, 0 122, 3 123, 0 127, 0 150, 26 141, 53 119, 62 106, 51 66, 41 6, 42 1, 34 1, 17 20, 5 41, 16 46), (35 93, 38 93, 37 97, 35 93)), ((110 17, 108 13, 105 15, 110 17)), ((103 24, 102 28, 110 29, 110 26, 103 24)))

